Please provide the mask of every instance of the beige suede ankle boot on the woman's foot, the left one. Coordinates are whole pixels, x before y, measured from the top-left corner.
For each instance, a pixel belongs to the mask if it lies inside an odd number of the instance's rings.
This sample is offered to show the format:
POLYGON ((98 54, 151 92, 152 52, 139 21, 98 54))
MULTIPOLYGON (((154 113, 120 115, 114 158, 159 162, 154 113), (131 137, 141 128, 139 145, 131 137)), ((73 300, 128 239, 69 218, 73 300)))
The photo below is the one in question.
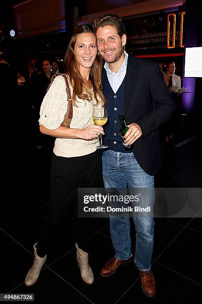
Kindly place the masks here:
POLYGON ((34 285, 34 283, 37 282, 40 271, 47 259, 47 255, 45 255, 45 257, 43 257, 43 258, 40 258, 37 255, 36 244, 34 244, 34 255, 35 255, 34 263, 33 263, 32 267, 30 268, 30 270, 28 271, 26 278, 25 278, 26 286, 32 286, 32 285, 34 285))

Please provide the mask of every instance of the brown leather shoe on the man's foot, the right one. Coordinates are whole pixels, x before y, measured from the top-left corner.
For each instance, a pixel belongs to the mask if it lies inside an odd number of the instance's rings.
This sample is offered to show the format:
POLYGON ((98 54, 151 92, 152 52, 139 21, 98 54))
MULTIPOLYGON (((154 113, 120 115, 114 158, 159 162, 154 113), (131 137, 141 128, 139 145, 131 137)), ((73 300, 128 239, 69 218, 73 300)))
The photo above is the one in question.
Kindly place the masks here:
POLYGON ((155 280, 152 274, 152 270, 140 271, 140 277, 142 281, 143 292, 148 297, 153 297, 155 295, 155 280))

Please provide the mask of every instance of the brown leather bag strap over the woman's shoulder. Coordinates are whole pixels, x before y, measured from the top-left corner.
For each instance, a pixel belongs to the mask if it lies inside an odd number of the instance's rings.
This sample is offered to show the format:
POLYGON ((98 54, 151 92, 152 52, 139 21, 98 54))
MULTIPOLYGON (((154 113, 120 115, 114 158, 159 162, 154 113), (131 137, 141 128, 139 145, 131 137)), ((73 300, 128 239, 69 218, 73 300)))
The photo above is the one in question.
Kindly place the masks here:
POLYGON ((56 76, 62 76, 65 80, 66 83, 66 93, 67 93, 67 111, 66 114, 64 116, 64 120, 61 123, 62 127, 66 127, 69 128, 71 120, 72 120, 72 116, 73 116, 73 105, 72 105, 72 98, 71 98, 71 92, 70 92, 70 88, 69 88, 69 83, 68 83, 68 79, 67 79, 67 75, 66 74, 62 74, 62 73, 56 73, 52 76, 51 78, 51 82, 47 88, 47 92, 50 89, 50 85, 52 84, 52 81, 54 80, 54 78, 56 76))

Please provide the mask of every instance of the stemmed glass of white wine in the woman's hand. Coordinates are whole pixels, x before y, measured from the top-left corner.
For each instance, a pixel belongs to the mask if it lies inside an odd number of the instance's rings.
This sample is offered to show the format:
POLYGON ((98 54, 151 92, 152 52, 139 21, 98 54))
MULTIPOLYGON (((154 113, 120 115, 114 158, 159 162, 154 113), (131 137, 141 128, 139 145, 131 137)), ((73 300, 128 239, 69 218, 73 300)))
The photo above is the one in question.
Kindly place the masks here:
MULTIPOLYGON (((94 125, 96 125, 96 126, 103 126, 106 123, 107 112, 106 112, 106 109, 105 109, 104 105, 102 105, 102 106, 94 105, 92 120, 94 122, 94 125)), ((99 137, 99 141, 100 141, 100 146, 98 146, 97 149, 108 148, 108 146, 102 145, 101 134, 100 134, 100 137, 99 137)))

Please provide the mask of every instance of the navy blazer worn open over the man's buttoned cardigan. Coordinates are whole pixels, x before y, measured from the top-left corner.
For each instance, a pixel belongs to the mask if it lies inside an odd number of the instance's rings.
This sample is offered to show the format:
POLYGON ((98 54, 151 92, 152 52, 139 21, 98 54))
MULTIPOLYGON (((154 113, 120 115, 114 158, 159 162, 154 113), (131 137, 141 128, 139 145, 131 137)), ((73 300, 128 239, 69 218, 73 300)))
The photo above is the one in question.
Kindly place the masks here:
MULTIPOLYGON (((103 69, 102 88, 105 77, 103 69)), ((135 122, 142 130, 143 135, 132 145, 132 152, 142 169, 150 175, 154 175, 162 164, 158 129, 168 121, 174 108, 174 100, 158 64, 129 54, 124 116, 127 125, 135 122)))

